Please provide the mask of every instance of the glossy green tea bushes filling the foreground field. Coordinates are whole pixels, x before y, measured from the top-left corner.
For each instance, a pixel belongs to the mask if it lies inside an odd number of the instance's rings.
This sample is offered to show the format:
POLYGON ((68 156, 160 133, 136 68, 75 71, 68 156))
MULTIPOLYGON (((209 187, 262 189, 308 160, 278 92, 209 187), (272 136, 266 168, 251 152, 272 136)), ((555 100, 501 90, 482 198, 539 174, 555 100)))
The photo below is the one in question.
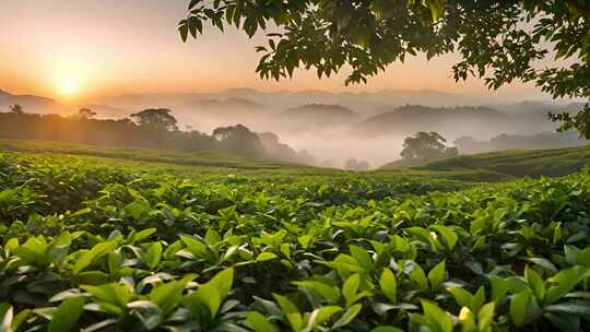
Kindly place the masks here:
POLYGON ((583 170, 2 149, 0 331, 590 331, 583 170))

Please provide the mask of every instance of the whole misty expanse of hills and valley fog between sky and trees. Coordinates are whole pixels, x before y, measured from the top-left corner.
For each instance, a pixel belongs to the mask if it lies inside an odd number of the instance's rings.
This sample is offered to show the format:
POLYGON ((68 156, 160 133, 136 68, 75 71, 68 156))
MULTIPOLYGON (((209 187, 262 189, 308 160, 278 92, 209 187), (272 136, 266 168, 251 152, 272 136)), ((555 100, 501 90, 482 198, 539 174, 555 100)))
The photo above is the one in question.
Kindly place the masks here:
POLYGON ((44 114, 88 107, 97 118, 169 108, 180 130, 211 133, 215 128, 240 123, 258 133, 272 132, 281 143, 311 154, 315 161, 308 163, 330 167, 344 167, 355 158, 378 168, 400 158, 404 138, 418 131, 440 133, 449 145, 459 147, 459 153, 583 144, 575 134, 552 133, 556 124, 547 120, 548 111, 576 111, 579 104, 505 103, 436 91, 337 94, 243 88, 216 94, 123 95, 75 107, 0 93, 0 107, 12 104, 44 114))

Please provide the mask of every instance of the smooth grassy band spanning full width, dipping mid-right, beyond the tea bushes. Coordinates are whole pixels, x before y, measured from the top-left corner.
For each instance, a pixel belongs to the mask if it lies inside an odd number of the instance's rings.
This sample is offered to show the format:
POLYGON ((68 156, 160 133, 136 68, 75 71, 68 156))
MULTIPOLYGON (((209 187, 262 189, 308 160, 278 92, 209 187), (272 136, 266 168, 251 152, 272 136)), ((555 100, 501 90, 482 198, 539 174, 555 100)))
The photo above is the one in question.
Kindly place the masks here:
POLYGON ((94 157, 103 163, 118 163, 126 167, 153 168, 188 177, 194 175, 228 174, 251 177, 284 176, 357 176, 374 180, 491 182, 512 180, 523 176, 562 176, 575 173, 590 163, 590 147, 539 151, 505 151, 459 156, 430 162, 413 168, 380 169, 357 173, 310 167, 275 161, 251 159, 211 152, 175 153, 149 149, 108 149, 82 144, 38 141, 0 140, 0 152, 26 154, 62 154, 94 157), (122 164, 121 164, 122 163, 122 164))

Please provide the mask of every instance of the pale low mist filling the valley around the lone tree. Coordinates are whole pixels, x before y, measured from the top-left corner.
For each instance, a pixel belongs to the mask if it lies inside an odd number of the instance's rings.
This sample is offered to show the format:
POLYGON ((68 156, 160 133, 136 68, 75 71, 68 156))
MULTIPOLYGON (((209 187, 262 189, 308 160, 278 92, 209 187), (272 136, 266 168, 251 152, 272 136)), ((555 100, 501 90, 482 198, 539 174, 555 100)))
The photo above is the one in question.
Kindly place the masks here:
POLYGON ((517 106, 444 108, 406 105, 384 107, 374 114, 374 110, 352 110, 341 105, 308 104, 264 111, 220 108, 194 112, 186 109, 179 111, 178 117, 187 128, 203 132, 237 123, 256 132, 273 132, 282 143, 311 154, 315 165, 337 168, 346 168, 351 158, 368 163, 370 169, 399 159, 404 139, 418 131, 436 131, 451 146, 465 143, 465 139, 481 143, 479 147, 458 146, 460 153, 583 143, 571 134, 560 137, 552 133, 557 126, 548 121, 547 111, 560 107, 535 104, 523 105, 519 109, 517 106), (544 135, 535 137, 541 133, 544 135), (504 135, 518 139, 495 146, 493 142, 504 135))

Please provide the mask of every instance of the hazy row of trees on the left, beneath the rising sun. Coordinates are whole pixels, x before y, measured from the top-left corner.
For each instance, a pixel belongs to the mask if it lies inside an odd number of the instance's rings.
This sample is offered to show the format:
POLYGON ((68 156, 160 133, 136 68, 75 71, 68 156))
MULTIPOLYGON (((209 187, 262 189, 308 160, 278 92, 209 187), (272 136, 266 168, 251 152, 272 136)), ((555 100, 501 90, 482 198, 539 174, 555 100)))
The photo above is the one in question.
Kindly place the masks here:
MULTIPOLYGON (((17 105, 15 105, 17 106, 17 105)), ((145 109, 125 119, 93 119, 92 110, 76 116, 0 111, 0 139, 81 143, 97 146, 137 146, 176 152, 233 154, 251 158, 273 158, 310 164, 312 156, 296 152, 276 140, 237 124, 217 128, 213 134, 181 131, 169 109, 145 109), (224 134, 216 134, 224 132, 224 134)))

